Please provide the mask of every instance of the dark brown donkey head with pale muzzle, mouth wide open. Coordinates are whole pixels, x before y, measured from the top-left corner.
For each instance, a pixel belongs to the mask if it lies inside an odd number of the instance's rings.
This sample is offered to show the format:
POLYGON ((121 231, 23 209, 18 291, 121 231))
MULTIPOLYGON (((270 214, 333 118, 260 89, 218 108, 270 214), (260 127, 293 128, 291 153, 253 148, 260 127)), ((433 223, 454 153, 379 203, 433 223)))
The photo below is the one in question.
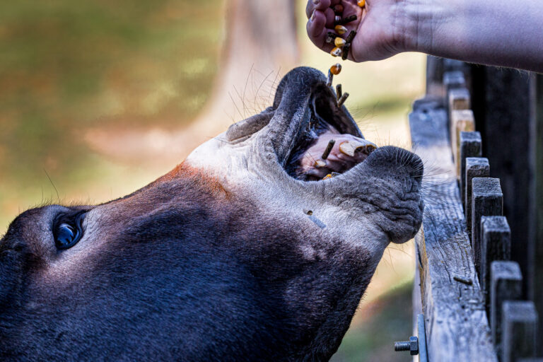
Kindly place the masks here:
POLYGON ((271 107, 151 185, 18 216, 0 242, 0 357, 329 358, 385 247, 419 230, 422 173, 294 69, 271 107))

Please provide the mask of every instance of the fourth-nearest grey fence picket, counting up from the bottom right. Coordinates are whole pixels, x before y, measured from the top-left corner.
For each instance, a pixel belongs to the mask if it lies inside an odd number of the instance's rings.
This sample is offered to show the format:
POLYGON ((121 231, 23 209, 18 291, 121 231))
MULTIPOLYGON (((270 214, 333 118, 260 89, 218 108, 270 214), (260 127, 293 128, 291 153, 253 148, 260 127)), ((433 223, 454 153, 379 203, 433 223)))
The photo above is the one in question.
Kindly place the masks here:
POLYGON ((474 177, 472 180, 472 249, 477 274, 481 276, 481 216, 501 216, 503 194, 500 180, 474 177))

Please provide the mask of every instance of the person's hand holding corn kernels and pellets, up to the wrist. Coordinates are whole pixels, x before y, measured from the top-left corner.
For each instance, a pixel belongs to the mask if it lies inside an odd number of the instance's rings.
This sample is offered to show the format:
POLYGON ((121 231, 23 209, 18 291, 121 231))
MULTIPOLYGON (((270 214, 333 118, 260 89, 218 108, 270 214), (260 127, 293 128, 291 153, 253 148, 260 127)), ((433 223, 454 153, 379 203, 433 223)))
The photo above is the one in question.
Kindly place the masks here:
POLYGON ((344 24, 348 29, 341 37, 346 38, 351 30, 356 36, 351 44, 348 59, 354 62, 379 60, 392 57, 399 52, 415 50, 416 25, 407 16, 404 0, 367 0, 361 8, 356 0, 308 0, 306 14, 310 40, 317 47, 330 52, 334 45, 325 42, 327 33, 334 32, 334 6, 343 6, 342 18, 356 15, 356 21, 344 24))

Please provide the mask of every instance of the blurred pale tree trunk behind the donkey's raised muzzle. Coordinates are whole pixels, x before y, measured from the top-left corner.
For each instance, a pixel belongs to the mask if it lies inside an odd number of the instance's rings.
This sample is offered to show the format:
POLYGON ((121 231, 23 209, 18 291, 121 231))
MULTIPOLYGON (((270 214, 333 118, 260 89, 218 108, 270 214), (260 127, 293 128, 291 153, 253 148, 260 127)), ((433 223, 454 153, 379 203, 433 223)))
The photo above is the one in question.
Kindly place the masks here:
POLYGON ((218 78, 193 123, 218 132, 271 105, 273 88, 299 62, 296 0, 226 0, 225 11, 218 78))

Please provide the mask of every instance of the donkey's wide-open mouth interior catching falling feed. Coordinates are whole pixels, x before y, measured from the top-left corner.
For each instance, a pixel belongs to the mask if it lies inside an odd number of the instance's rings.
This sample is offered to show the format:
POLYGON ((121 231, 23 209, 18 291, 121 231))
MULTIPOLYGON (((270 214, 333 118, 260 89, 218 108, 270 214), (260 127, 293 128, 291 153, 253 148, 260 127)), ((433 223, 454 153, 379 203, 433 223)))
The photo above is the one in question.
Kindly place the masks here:
POLYGON ((321 83, 310 97, 309 112, 285 170, 298 180, 323 180, 354 168, 376 148, 363 138, 344 107, 337 104, 336 95, 321 83))

